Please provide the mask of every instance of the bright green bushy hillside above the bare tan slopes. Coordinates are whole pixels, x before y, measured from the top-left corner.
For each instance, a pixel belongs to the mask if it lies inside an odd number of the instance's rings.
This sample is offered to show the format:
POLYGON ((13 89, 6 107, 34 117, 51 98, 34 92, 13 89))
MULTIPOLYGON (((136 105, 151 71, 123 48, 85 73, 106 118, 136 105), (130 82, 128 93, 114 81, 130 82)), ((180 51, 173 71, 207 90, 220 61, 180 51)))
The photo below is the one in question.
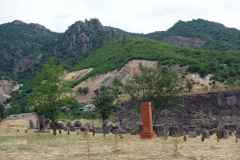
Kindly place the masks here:
POLYGON ((196 50, 148 38, 130 37, 106 44, 72 68, 71 71, 94 68, 74 85, 90 76, 120 69, 133 59, 158 60, 161 64, 189 65, 189 72, 199 72, 202 76, 214 73, 214 79, 220 81, 231 77, 237 78, 240 74, 238 53, 196 50))

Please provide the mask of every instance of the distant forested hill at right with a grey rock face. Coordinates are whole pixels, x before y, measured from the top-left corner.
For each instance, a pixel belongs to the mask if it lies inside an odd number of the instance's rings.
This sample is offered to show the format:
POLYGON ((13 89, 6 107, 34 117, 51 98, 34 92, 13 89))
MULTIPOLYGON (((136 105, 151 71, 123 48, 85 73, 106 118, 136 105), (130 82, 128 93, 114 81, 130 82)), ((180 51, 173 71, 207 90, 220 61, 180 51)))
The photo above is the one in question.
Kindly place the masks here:
POLYGON ((240 50, 240 30, 203 19, 178 21, 167 31, 149 34, 129 33, 117 29, 120 34, 164 41, 177 46, 197 49, 240 50))

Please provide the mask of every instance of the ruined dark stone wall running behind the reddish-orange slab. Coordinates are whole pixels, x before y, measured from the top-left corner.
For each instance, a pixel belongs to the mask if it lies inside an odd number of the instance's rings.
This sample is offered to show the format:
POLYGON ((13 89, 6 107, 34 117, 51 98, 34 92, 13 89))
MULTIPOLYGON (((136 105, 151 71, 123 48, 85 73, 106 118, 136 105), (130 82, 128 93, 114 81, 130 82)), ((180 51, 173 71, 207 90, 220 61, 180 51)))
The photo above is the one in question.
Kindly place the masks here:
MULTIPOLYGON (((164 110, 157 125, 215 128, 219 125, 240 124, 240 90, 208 92, 179 97, 184 110, 164 110)), ((141 114, 134 101, 125 101, 118 107, 118 121, 126 130, 139 129, 141 114)))

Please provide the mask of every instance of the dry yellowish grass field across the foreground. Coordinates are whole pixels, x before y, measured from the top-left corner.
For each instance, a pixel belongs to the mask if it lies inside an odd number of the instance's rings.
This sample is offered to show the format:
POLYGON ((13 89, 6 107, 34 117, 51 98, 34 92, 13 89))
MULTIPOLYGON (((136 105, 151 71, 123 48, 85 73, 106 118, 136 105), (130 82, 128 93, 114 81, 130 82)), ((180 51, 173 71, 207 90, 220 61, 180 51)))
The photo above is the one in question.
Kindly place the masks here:
MULTIPOLYGON (((191 160, 238 160, 240 159, 240 139, 235 137, 217 141, 216 135, 201 141, 201 137, 187 139, 183 137, 156 138, 141 140, 139 135, 123 135, 116 147, 113 134, 103 137, 103 134, 62 131, 57 136, 50 133, 38 134, 35 130, 25 130, 29 119, 5 120, 0 123, 0 159, 94 159, 94 160, 131 160, 131 159, 191 159, 191 160), (19 132, 17 132, 19 130, 19 132), (89 154, 88 145, 89 142, 89 154), (177 146, 177 147, 176 147, 177 146), (178 149, 178 151, 176 150, 178 149), (175 150, 175 151, 174 151, 175 150)), ((33 119, 33 118, 32 118, 33 119)))

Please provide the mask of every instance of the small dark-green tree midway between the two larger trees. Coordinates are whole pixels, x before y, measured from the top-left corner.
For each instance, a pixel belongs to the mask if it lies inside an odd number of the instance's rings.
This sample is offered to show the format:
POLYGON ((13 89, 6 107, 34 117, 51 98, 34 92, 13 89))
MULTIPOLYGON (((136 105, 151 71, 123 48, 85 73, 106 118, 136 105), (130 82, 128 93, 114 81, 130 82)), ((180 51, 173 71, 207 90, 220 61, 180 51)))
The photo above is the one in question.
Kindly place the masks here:
POLYGON ((114 104, 115 96, 111 88, 101 86, 100 90, 94 91, 96 98, 93 100, 96 111, 99 113, 100 118, 104 121, 109 118, 112 112, 117 108, 117 104, 114 104))

